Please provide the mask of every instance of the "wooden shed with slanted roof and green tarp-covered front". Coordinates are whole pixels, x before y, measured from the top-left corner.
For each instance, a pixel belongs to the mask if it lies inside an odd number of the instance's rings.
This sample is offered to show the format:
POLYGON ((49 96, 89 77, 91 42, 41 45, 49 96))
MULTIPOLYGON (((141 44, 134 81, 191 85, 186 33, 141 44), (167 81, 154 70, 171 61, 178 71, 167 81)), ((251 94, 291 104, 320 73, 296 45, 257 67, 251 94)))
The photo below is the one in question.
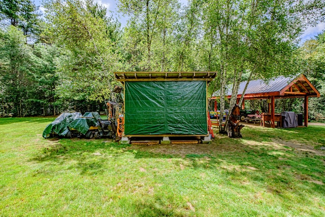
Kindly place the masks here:
POLYGON ((215 72, 116 72, 124 137, 208 136, 207 84, 215 72))

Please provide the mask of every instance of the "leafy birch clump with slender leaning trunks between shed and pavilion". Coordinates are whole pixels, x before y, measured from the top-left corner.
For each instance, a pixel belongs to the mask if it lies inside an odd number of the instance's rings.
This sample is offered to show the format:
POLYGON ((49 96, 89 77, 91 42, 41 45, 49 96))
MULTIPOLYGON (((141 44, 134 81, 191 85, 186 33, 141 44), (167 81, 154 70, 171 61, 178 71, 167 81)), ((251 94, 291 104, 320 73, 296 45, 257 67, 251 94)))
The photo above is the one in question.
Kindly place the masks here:
MULTIPOLYGON (((323 13, 323 8, 322 1, 207 1, 203 10, 205 35, 214 40, 220 59, 220 110, 224 109, 229 80, 229 110, 235 105, 244 72, 250 73, 249 80, 297 73, 297 37, 304 25, 319 20, 317 15, 323 13)), ((226 132, 228 118, 220 133, 226 132)))

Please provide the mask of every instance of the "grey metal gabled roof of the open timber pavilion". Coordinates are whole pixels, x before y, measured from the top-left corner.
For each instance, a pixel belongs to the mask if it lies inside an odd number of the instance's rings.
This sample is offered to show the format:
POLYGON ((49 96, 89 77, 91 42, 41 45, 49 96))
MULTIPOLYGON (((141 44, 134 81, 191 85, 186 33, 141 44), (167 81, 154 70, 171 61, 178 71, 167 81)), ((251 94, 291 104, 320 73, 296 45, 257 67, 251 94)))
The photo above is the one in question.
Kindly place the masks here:
MULTIPOLYGON (((241 82, 238 89, 237 97, 241 97, 247 81, 241 82)), ((232 96, 232 87, 228 88, 228 97, 232 96)), ((216 97, 215 92, 213 97, 216 97)), ((265 82, 262 79, 252 80, 248 83, 244 98, 268 98, 275 96, 276 98, 293 98, 293 97, 319 97, 317 89, 310 81, 300 74, 293 77, 279 76, 265 82)))

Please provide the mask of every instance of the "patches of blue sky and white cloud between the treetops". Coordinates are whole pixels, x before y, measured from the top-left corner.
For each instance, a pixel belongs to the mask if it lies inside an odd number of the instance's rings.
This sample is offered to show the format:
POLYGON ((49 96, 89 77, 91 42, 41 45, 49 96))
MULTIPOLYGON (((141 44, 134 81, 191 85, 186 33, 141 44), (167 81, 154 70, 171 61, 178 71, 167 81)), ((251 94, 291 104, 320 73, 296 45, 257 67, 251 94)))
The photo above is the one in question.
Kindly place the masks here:
MULTIPOLYGON (((42 0, 35 0, 35 4, 37 6, 41 6, 41 1, 42 0)), ((122 27, 126 25, 127 17, 124 17, 124 16, 122 16, 122 14, 119 14, 117 12, 118 0, 95 0, 95 2, 98 2, 101 5, 104 5, 107 8, 108 15, 113 15, 113 17, 117 18, 120 21, 122 27)), ((180 2, 182 4, 186 4, 187 0, 180 0, 180 2)), ((43 8, 41 7, 40 9, 42 10, 43 8)), ((324 29, 325 29, 324 22, 320 22, 316 26, 307 27, 307 29, 305 30, 304 34, 301 37, 302 38, 301 42, 303 43, 308 39, 314 38, 319 33, 321 33, 324 29)))

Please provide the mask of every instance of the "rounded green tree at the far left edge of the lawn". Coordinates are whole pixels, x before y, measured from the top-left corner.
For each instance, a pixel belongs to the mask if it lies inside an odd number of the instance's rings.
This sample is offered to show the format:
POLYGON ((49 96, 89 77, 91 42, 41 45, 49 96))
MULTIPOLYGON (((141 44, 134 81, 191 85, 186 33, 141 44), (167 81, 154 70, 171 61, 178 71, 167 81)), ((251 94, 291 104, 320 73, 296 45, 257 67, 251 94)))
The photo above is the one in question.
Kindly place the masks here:
MULTIPOLYGON (((1 100, 6 103, 7 110, 24 116, 30 103, 30 90, 34 85, 32 59, 34 54, 26 45, 26 38, 15 26, 9 26, 0 43, 0 86, 3 87, 1 100)), ((4 107, 3 107, 4 108, 4 107)), ((2 113, 7 113, 5 109, 2 113)))

